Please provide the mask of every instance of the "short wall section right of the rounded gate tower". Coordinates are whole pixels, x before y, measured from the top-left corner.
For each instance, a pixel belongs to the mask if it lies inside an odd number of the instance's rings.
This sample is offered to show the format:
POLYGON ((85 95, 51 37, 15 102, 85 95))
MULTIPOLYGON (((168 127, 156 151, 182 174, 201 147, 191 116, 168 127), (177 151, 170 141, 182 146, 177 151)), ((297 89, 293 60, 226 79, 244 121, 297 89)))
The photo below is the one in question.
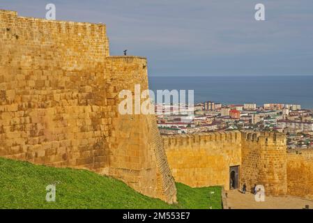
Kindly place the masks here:
POLYGON ((289 150, 287 153, 288 194, 313 199, 313 150, 289 150))

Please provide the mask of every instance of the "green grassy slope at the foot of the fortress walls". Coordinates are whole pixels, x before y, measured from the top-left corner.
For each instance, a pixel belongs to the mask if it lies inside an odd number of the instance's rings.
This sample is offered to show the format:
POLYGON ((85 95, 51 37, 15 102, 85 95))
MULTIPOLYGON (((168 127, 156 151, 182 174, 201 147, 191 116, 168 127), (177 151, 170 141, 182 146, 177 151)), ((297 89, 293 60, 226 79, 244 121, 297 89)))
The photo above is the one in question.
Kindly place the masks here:
POLYGON ((0 157, 0 208, 221 208, 220 187, 176 186, 178 203, 169 205, 91 171, 0 157), (52 183, 56 183, 56 201, 47 202, 45 188, 52 183))

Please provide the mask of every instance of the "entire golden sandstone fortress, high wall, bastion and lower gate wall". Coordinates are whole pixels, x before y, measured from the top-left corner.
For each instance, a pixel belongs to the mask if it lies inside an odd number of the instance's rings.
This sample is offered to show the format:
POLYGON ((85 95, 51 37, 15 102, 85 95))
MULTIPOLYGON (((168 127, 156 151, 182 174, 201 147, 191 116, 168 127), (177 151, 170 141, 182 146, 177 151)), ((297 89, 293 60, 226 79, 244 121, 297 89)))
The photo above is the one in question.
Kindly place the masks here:
POLYGON ((231 167, 239 168, 239 187, 313 199, 313 151, 287 153, 282 134, 161 137, 155 116, 119 114, 121 90, 148 89, 147 63, 110 56, 104 24, 0 10, 0 52, 1 157, 89 169, 169 203, 174 179, 229 190, 231 167))

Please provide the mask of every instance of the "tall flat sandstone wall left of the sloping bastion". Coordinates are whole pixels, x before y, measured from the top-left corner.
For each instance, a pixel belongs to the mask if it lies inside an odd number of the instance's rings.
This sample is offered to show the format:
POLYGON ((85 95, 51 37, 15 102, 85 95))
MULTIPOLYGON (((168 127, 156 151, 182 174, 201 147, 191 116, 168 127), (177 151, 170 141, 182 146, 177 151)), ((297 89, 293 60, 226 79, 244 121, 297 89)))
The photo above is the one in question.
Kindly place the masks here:
POLYGON ((107 166, 105 26, 1 10, 0 51, 0 155, 56 167, 107 166))

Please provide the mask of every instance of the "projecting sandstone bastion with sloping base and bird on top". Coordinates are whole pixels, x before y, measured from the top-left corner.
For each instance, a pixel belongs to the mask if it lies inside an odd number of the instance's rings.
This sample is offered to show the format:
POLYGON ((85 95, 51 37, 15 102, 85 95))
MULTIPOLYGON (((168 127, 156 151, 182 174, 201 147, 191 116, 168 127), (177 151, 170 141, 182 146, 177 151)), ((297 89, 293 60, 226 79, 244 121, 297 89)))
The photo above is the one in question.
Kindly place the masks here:
MULTIPOLYGON (((141 91, 148 89, 146 59, 132 56, 109 56, 106 63, 108 85, 114 86, 108 95, 113 98, 113 110, 118 110, 123 89, 133 93, 135 112, 135 84, 141 91)), ((140 95, 139 95, 140 97, 140 95)), ((139 98, 140 105, 146 99, 139 98)), ((151 105, 153 107, 153 105, 151 105)), ((171 175, 162 139, 154 115, 121 115, 112 119, 110 137, 114 150, 109 154, 109 175, 126 179, 144 194, 158 194, 167 201, 176 201, 176 187, 171 175), (156 176, 156 178, 155 178, 156 176)))

